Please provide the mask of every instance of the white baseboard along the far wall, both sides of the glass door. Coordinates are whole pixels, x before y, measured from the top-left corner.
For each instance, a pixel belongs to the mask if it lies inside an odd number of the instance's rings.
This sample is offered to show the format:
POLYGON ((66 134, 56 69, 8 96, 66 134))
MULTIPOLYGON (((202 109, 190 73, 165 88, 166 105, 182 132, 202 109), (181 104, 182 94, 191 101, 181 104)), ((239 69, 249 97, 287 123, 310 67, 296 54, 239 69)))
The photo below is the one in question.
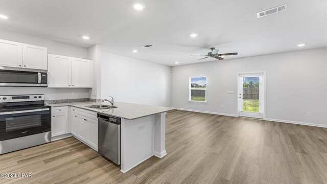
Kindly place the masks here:
MULTIPOLYGON (((178 110, 192 111, 192 112, 201 112, 201 113, 217 114, 217 115, 222 115, 222 116, 237 117, 236 114, 226 114, 226 113, 219 113, 219 112, 210 112, 210 111, 203 111, 203 110, 183 109, 183 108, 177 108, 177 109, 178 110)), ((273 122, 291 123, 291 124, 298 124, 298 125, 307 125, 307 126, 327 128, 327 125, 315 124, 315 123, 306 123, 306 122, 297 122, 297 121, 289 121, 289 120, 277 120, 277 119, 266 118, 264 121, 273 121, 273 122)))

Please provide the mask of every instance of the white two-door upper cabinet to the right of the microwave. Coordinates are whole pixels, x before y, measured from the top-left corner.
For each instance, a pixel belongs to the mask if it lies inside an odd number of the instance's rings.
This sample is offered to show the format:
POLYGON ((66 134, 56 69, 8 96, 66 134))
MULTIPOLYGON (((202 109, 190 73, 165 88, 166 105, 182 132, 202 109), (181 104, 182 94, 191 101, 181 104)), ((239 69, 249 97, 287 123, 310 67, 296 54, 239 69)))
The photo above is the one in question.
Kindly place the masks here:
POLYGON ((48 54, 48 87, 92 87, 92 61, 48 54))

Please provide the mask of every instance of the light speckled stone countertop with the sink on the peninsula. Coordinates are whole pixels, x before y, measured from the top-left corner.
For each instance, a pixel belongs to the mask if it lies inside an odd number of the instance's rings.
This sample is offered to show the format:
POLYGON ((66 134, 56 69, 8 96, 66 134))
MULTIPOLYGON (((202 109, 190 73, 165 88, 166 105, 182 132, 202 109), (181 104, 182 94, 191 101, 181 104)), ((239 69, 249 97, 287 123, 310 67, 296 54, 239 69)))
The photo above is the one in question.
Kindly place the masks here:
POLYGON ((110 116, 119 117, 127 120, 134 120, 137 118, 151 116, 156 113, 167 112, 169 110, 174 110, 176 108, 172 107, 160 107, 160 106, 152 106, 152 105, 141 105, 141 104, 133 104, 133 103, 124 103, 124 102, 115 102, 114 106, 117 108, 112 109, 94 109, 85 107, 88 105, 111 105, 109 102, 68 102, 68 103, 53 103, 53 104, 46 104, 51 107, 62 107, 62 106, 73 106, 85 110, 100 112, 104 114, 108 114, 110 116))

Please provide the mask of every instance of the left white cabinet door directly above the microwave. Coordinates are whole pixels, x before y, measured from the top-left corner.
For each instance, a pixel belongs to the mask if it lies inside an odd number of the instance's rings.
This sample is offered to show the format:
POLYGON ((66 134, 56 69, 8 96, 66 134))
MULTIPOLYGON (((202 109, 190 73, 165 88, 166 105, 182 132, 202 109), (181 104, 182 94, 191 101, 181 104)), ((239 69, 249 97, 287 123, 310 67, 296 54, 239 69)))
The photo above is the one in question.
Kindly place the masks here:
POLYGON ((0 66, 22 67, 22 43, 0 39, 0 66))

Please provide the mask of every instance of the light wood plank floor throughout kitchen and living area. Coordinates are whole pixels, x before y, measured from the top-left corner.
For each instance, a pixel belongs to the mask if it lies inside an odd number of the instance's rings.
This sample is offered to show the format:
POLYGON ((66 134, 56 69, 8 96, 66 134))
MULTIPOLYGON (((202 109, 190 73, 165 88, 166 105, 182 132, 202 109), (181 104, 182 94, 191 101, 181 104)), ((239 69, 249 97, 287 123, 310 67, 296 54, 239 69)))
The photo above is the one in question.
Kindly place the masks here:
POLYGON ((327 183, 327 129, 175 110, 162 159, 123 174, 74 138, 0 155, 0 183, 327 183))

